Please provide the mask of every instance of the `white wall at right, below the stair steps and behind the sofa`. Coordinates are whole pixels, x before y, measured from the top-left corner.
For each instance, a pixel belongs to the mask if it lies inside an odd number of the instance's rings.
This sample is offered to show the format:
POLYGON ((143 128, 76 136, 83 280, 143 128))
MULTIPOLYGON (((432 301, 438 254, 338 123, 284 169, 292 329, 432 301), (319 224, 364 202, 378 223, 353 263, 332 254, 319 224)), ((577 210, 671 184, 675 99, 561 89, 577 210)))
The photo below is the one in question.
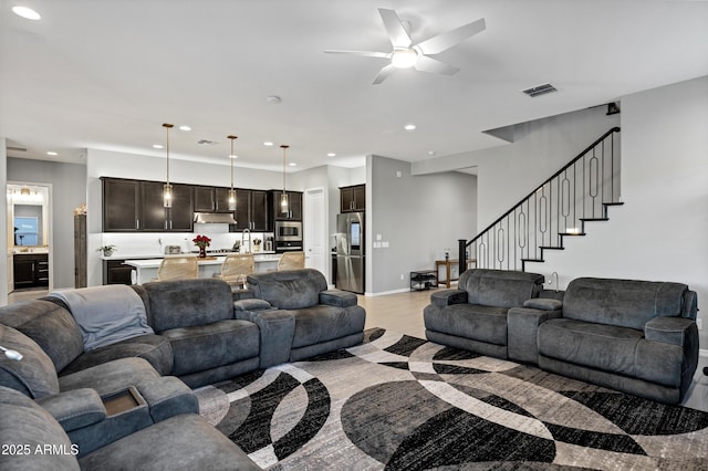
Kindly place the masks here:
MULTIPOLYGON (((622 98, 622 196, 608 222, 529 271, 675 281, 698 293, 708 348, 708 77, 622 98)), ((568 239, 568 238, 566 238, 568 239)))

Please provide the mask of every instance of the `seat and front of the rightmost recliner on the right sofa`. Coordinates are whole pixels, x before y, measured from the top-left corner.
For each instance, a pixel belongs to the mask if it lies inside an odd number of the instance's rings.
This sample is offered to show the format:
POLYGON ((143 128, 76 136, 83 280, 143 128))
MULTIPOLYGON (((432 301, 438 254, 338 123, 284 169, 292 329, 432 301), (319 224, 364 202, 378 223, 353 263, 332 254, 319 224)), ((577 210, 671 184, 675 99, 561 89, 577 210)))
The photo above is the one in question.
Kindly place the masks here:
POLYGON ((649 342, 643 332, 628 327, 569 318, 540 325, 539 354, 617 375, 678 387, 683 348, 649 342))

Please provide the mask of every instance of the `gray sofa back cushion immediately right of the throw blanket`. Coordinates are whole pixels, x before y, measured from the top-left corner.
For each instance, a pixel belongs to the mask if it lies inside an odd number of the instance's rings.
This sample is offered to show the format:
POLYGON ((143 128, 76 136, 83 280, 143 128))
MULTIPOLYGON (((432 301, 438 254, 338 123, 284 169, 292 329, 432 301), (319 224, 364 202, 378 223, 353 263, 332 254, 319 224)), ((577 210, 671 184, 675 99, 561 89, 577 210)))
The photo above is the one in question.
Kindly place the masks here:
POLYGON ((231 287, 222 280, 157 281, 136 292, 145 303, 148 324, 157 333, 233 318, 231 287))

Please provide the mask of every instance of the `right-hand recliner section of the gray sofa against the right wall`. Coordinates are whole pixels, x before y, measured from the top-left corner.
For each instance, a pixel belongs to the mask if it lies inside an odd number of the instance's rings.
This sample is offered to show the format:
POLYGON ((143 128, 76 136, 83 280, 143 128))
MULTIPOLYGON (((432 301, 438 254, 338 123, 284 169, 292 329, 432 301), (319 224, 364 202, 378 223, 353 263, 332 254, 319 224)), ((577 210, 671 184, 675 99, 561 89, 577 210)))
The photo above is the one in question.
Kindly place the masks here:
POLYGON ((687 285, 575 279, 559 314, 538 327, 541 368, 662 402, 683 399, 698 364, 697 296, 687 285))

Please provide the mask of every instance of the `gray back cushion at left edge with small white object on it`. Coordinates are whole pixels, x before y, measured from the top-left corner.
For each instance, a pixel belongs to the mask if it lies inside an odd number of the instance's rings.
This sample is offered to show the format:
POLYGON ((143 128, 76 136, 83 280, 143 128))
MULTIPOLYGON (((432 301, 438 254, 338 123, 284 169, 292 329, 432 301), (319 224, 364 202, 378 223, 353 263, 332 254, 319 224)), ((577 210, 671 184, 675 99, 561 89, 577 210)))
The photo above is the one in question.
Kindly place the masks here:
POLYGON ((32 399, 59 393, 54 364, 34 341, 0 324, 0 345, 22 355, 22 360, 15 362, 0 354, 0 386, 17 389, 32 399))

